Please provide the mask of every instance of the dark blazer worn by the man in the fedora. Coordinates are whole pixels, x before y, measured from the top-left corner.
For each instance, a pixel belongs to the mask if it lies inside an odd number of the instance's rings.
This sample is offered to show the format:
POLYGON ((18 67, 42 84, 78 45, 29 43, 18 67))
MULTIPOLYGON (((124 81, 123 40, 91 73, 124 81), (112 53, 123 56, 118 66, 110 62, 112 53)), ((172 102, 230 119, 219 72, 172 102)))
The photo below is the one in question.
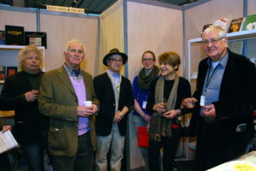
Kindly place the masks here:
MULTIPOLYGON (((107 136, 111 133, 115 115, 113 85, 107 73, 94 78, 94 90, 101 105, 101 109, 95 120, 96 133, 100 136, 107 136)), ((119 110, 121 111, 124 106, 128 109, 132 109, 133 104, 134 98, 132 96, 131 81, 122 76, 119 93, 119 110)), ((119 132, 122 136, 126 134, 126 120, 129 112, 130 111, 128 111, 125 117, 118 123, 119 132)))

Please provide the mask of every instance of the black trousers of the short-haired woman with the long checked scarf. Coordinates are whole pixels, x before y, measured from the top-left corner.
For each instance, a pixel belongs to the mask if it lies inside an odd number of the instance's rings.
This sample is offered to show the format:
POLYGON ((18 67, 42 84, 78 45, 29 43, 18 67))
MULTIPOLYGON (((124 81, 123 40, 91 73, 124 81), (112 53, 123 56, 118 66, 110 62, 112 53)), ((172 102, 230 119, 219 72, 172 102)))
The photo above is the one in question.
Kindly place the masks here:
POLYGON ((164 171, 174 170, 174 158, 177 147, 180 143, 180 128, 172 129, 172 136, 170 138, 161 137, 160 142, 156 142, 153 139, 149 139, 149 170, 160 171, 160 150, 163 144, 163 158, 162 166, 164 171))

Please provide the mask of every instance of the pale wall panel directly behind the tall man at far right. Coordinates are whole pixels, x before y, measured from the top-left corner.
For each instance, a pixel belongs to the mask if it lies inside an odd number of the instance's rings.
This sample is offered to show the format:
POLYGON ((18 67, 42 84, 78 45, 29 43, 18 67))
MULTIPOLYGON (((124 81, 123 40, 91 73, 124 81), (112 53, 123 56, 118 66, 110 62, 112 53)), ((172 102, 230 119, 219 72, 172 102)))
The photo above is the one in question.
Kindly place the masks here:
MULTIPOLYGON (((185 10, 185 33, 186 33, 186 78, 188 78, 188 51, 187 40, 200 38, 205 24, 214 24, 216 20, 228 18, 230 20, 243 16, 243 1, 241 0, 211 0, 202 3, 192 9, 185 10)), ((198 71, 198 63, 205 58, 201 44, 192 44, 191 71, 198 71)), ((195 90, 195 80, 192 80, 192 93, 195 90)))

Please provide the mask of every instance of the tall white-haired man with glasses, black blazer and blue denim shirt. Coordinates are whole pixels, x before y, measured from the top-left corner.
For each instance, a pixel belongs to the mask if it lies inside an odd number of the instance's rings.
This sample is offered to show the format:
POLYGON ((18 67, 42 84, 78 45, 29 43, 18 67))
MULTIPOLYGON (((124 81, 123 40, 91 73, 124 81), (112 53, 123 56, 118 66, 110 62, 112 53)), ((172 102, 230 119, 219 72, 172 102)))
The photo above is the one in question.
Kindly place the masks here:
POLYGON ((199 63, 197 90, 184 101, 187 108, 191 99, 196 102, 190 127, 198 136, 197 171, 245 154, 256 98, 255 66, 228 49, 222 27, 207 28, 202 39, 208 57, 199 63))

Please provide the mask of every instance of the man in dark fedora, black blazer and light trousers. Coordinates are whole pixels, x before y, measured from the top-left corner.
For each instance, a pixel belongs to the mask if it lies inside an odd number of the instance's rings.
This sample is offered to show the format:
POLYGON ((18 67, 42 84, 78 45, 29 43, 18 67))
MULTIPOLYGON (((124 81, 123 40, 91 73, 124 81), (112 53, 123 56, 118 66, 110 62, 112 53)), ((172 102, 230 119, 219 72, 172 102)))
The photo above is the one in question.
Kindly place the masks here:
POLYGON ((95 119, 98 151, 96 170, 107 171, 107 152, 111 149, 111 170, 120 170, 125 146, 126 120, 133 107, 131 81, 120 74, 127 62, 125 53, 110 50, 103 64, 107 72, 94 78, 94 91, 100 100, 100 110, 95 119))

